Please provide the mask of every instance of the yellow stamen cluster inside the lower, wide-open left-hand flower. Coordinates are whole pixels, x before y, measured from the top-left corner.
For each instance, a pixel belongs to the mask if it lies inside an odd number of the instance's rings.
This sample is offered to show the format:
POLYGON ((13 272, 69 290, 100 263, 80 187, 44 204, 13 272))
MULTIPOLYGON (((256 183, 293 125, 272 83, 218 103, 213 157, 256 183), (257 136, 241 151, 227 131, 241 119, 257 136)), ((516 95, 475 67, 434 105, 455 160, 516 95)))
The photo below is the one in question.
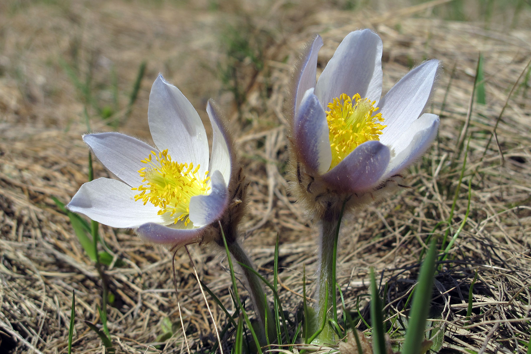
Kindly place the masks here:
POLYGON ((151 151, 141 162, 148 167, 138 170, 143 184, 138 188, 131 188, 140 192, 134 196, 135 201, 142 200, 144 205, 150 202, 160 208, 159 215, 170 213, 170 216, 175 216, 174 223, 184 220, 184 225, 187 226, 190 223, 190 198, 207 194, 210 189, 208 171, 204 177, 198 176, 200 165, 194 168, 192 162, 172 161, 167 149, 158 154, 151 151))

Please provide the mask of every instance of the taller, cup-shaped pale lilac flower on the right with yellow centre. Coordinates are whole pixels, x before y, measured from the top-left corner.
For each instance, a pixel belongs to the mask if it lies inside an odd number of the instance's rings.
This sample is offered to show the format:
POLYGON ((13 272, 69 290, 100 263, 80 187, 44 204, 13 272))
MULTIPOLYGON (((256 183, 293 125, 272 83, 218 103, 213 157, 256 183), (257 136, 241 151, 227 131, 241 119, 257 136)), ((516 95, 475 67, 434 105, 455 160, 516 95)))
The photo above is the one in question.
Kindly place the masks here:
POLYGON ((315 187, 325 185, 321 191, 374 191, 421 156, 436 136, 439 117, 422 111, 439 61, 417 66, 380 99, 378 34, 368 29, 347 34, 315 82, 322 45, 320 36, 310 41, 294 75, 290 114, 298 182, 301 174, 310 174, 315 187))

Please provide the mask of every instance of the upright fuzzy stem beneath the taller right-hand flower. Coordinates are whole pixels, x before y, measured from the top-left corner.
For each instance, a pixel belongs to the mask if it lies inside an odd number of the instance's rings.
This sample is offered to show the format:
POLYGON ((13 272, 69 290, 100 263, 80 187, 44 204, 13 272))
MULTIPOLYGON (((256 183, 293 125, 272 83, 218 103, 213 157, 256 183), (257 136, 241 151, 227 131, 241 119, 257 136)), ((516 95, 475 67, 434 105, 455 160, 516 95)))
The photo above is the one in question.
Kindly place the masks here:
POLYGON ((335 333, 328 322, 330 319, 336 320, 336 252, 342 214, 341 206, 332 207, 324 213, 321 219, 317 303, 315 305, 317 317, 314 321, 314 331, 320 329, 324 316, 326 316, 326 322, 321 333, 312 341, 313 344, 334 343, 335 339, 335 333))

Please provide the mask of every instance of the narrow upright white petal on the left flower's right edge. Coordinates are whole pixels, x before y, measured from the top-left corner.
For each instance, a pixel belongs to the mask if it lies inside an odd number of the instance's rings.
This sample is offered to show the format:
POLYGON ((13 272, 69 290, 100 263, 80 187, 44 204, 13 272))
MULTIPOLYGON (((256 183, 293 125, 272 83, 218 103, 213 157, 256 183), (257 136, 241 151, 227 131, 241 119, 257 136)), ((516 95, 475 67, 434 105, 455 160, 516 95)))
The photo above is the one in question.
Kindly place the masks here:
POLYGON ((209 171, 220 171, 225 183, 229 184, 232 172, 232 157, 234 151, 230 151, 233 146, 229 133, 223 122, 217 105, 209 100, 207 103, 207 114, 212 124, 212 156, 210 157, 209 171))

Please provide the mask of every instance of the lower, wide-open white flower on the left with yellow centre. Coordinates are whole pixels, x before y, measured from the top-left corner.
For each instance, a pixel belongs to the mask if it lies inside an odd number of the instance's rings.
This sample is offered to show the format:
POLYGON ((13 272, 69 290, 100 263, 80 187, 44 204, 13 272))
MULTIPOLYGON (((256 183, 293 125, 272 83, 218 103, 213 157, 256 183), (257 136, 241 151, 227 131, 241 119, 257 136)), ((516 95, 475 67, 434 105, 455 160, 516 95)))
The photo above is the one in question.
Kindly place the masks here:
POLYGON ((212 154, 198 113, 159 75, 149 96, 148 123, 157 148, 120 133, 83 136, 120 180, 98 178, 81 186, 67 208, 116 228, 133 228, 151 243, 202 240, 225 214, 233 174, 232 143, 216 106, 207 104, 212 154))

